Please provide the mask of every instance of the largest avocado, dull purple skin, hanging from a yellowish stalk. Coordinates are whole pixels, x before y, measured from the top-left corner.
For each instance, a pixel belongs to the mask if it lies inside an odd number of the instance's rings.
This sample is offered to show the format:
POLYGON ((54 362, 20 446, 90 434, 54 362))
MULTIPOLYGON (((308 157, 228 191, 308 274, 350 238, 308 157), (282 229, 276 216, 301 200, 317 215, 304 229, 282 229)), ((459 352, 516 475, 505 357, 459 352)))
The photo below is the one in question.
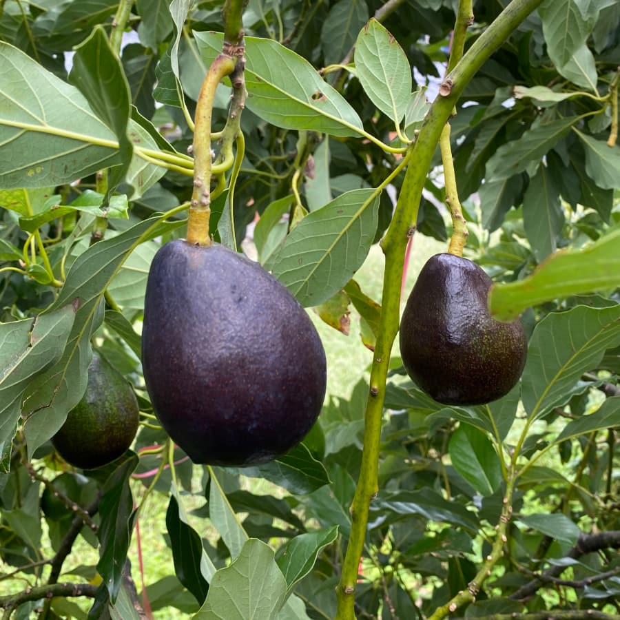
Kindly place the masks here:
POLYGON ((149 271, 143 373, 161 424, 197 464, 260 464, 316 421, 326 359, 306 311, 265 269, 174 240, 149 271))

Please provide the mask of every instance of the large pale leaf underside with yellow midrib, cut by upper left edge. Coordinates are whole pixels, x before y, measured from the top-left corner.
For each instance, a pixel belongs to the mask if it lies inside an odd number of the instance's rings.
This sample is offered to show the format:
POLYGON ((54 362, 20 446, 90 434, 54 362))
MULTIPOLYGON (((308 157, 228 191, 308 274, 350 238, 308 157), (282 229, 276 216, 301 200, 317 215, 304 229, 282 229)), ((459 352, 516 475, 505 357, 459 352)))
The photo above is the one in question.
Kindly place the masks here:
POLYGON ((118 141, 84 96, 0 42, 0 187, 70 183, 120 163, 118 141))

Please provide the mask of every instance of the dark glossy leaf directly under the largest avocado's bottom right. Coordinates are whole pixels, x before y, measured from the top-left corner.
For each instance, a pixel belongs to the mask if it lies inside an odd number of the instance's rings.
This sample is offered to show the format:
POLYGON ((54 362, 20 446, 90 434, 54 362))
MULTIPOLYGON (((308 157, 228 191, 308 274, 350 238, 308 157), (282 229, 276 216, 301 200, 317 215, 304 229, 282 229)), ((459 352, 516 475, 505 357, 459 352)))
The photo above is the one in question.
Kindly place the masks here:
POLYGON ((305 495, 329 484, 329 476, 304 444, 263 465, 244 467, 236 471, 251 478, 265 478, 293 495, 305 495))

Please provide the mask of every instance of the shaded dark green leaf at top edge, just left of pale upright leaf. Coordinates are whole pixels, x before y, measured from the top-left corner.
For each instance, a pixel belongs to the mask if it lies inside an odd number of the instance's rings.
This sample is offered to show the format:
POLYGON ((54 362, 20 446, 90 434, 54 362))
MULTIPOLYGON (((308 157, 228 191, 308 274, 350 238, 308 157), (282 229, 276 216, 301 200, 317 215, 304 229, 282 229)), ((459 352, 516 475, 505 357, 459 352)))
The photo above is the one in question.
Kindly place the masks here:
POLYGON ((366 21, 368 6, 363 0, 340 0, 331 6, 321 28, 321 47, 326 65, 344 60, 366 21))

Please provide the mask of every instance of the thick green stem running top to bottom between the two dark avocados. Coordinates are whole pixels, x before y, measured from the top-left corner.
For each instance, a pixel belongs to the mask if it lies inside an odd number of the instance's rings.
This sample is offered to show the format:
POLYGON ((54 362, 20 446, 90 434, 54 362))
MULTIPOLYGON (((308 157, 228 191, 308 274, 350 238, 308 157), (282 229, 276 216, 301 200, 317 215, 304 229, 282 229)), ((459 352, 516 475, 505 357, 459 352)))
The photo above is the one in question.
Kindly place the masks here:
POLYGON ((487 30, 473 43, 455 68, 446 76, 440 96, 433 102, 420 134, 409 147, 411 161, 404 176, 391 225, 383 240, 385 254, 384 288, 380 335, 375 347, 371 383, 366 403, 366 428, 362 451, 362 467, 358 486, 351 504, 351 536, 342 565, 340 583, 336 588, 338 611, 336 620, 355 618, 355 583, 364 540, 370 503, 378 493, 378 463, 386 376, 394 338, 400 324, 400 284, 404 254, 417 222, 420 198, 431 159, 441 132, 466 84, 499 48, 511 32, 542 0, 513 0, 487 30))

